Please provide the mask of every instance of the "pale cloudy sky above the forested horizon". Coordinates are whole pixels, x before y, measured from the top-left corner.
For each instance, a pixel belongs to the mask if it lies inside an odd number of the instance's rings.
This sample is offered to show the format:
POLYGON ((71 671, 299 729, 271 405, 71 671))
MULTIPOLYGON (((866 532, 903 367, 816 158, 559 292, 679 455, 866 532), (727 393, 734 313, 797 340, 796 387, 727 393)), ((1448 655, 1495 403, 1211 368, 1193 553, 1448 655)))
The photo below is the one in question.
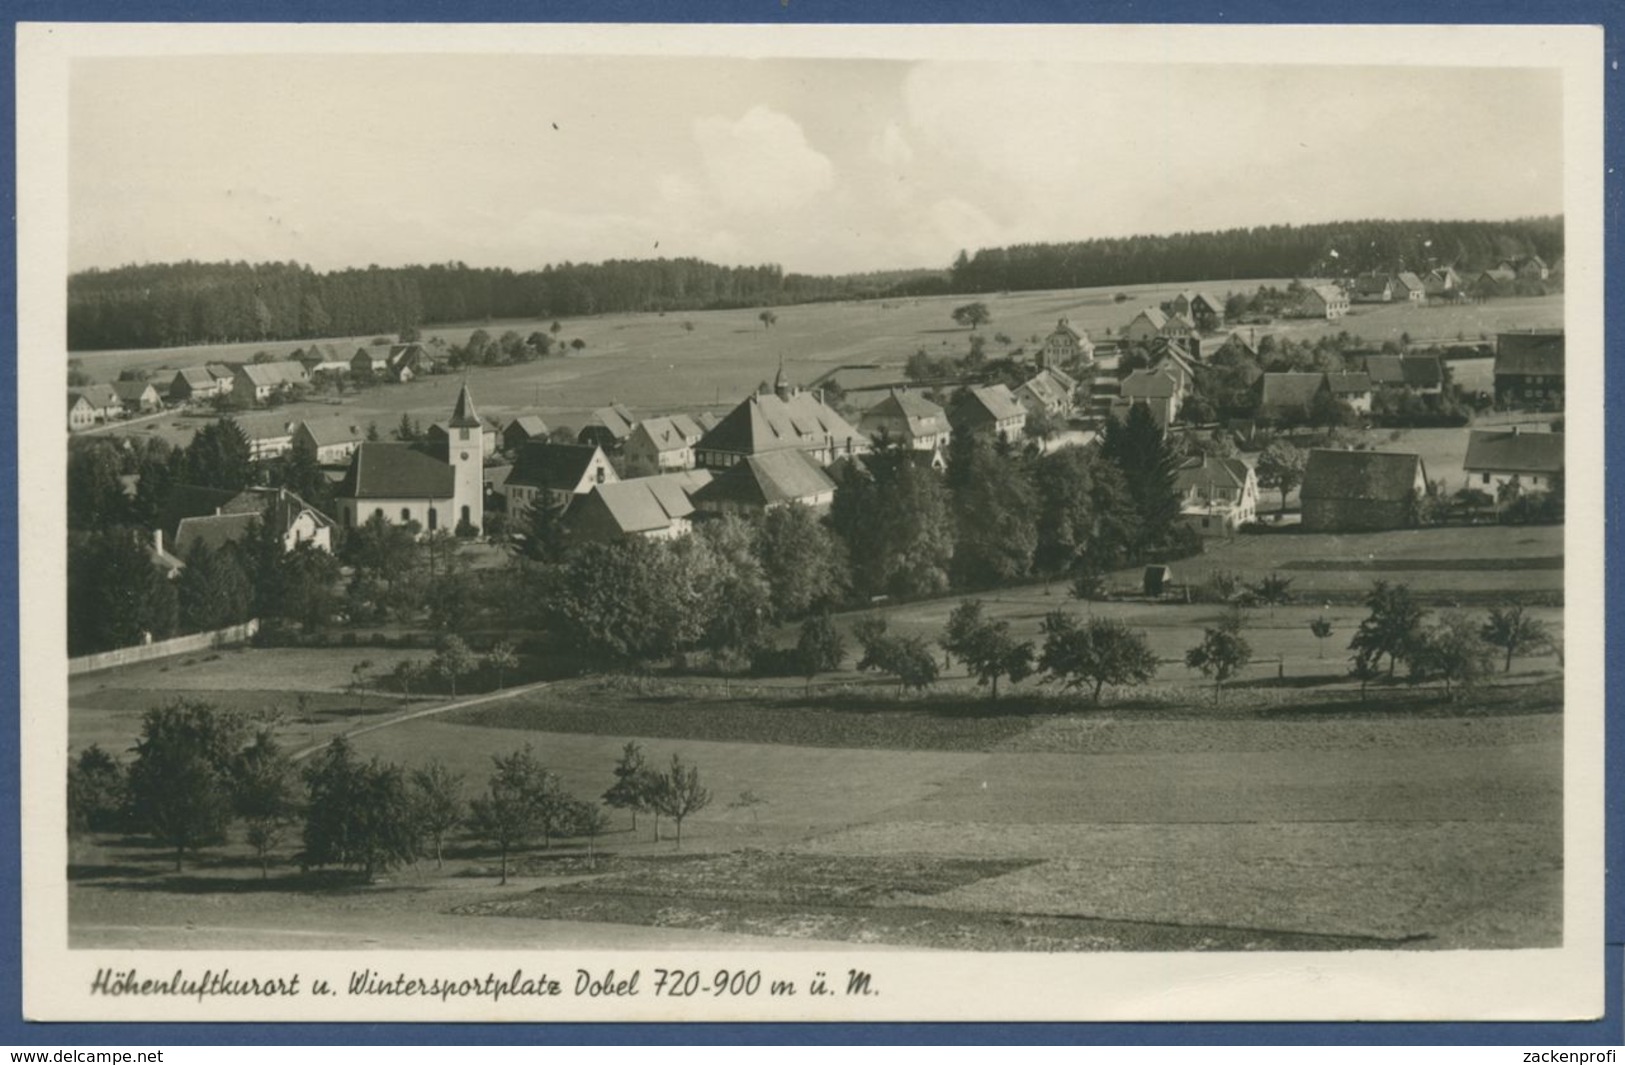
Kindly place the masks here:
POLYGON ((1555 70, 590 55, 78 59, 70 268, 960 249, 1563 211, 1555 70))

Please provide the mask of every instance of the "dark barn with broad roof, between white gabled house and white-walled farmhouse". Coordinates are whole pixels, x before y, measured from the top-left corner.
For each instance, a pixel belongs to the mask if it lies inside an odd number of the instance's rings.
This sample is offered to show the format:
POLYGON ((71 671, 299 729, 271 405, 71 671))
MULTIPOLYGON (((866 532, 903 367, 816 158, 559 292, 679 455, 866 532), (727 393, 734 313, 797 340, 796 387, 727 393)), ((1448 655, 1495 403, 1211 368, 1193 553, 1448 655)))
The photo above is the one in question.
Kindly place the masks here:
POLYGON ((1427 493, 1422 455, 1381 450, 1310 452, 1298 499, 1305 532, 1412 528, 1427 493))

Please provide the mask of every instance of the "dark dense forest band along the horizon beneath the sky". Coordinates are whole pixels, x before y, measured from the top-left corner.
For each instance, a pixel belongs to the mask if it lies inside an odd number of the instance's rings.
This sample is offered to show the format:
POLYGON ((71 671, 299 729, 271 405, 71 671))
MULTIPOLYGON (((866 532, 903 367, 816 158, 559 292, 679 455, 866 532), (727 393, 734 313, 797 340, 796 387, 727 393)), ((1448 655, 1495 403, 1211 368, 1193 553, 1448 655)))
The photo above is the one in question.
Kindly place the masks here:
POLYGON ((1360 270, 1482 270, 1563 254, 1563 220, 1354 221, 1019 244, 960 252, 949 270, 814 276, 697 259, 557 263, 540 270, 434 263, 318 273, 292 262, 179 262, 68 276, 68 350, 400 333, 421 325, 614 312, 767 307, 1360 270))

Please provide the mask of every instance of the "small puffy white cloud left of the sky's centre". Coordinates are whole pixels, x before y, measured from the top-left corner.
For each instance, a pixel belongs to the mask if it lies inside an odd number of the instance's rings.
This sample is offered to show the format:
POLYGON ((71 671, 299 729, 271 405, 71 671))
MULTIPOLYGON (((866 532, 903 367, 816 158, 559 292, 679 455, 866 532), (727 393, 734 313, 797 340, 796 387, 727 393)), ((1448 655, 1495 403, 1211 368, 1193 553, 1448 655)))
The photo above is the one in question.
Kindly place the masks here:
POLYGON ((795 119, 769 107, 752 107, 738 120, 699 119, 694 140, 710 189, 728 208, 793 210, 835 184, 829 156, 808 143, 795 119))

